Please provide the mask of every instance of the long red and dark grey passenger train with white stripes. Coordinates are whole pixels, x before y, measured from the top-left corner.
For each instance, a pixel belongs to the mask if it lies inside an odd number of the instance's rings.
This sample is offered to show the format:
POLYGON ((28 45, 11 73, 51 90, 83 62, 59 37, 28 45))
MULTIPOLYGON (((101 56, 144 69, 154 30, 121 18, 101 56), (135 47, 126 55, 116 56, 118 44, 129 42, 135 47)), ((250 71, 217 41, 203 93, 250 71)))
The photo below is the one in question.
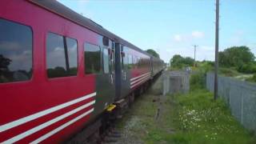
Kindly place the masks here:
POLYGON ((89 136, 162 70, 160 58, 60 2, 2 0, 0 143, 89 136))

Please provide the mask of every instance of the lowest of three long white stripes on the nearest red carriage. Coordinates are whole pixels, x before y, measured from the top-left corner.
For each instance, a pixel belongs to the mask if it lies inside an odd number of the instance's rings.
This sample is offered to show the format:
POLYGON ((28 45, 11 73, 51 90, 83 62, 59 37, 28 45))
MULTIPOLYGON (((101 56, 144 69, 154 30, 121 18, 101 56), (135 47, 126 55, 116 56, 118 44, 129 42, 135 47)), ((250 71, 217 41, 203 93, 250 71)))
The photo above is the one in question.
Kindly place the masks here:
POLYGON ((94 108, 93 109, 90 109, 89 111, 86 111, 86 113, 84 114, 81 114, 79 115, 78 117, 72 119, 70 122, 66 122, 64 125, 62 126, 59 126, 57 129, 54 129, 52 131, 50 131, 49 133, 43 135, 42 137, 34 140, 33 142, 30 142, 31 144, 36 144, 36 143, 39 143, 39 142, 42 142, 43 140, 45 140, 46 138, 49 138, 50 136, 58 133, 58 131, 60 130, 63 130, 64 128, 66 128, 67 126, 70 126, 71 124, 73 124, 74 122, 77 122, 79 119, 85 117, 86 115, 90 114, 91 112, 94 111, 94 108))

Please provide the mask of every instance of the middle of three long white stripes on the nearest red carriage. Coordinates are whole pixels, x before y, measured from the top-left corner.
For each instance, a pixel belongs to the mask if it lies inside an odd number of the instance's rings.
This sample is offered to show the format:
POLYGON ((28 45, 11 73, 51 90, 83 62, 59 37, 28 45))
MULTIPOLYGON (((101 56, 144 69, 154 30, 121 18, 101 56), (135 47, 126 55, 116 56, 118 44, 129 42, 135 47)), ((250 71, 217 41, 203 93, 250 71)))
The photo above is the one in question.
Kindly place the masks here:
POLYGON ((22 134, 18 134, 16 136, 14 136, 13 138, 10 138, 10 139, 6 140, 5 142, 0 142, 0 143, 6 143, 7 144, 7 143, 17 142, 17 141, 21 140, 22 138, 25 138, 25 137, 29 136, 30 134, 34 134, 35 132, 46 128, 47 126, 50 126, 50 125, 54 124, 55 122, 58 122, 58 121, 66 118, 66 117, 68 117, 68 116, 70 116, 72 114, 77 113, 80 110, 85 109, 88 106, 92 106, 94 103, 95 103, 95 100, 92 101, 92 102, 88 102, 85 105, 82 105, 82 106, 80 106, 80 107, 78 107, 78 108, 76 108, 74 110, 71 110, 71 111, 67 112, 66 114, 62 114, 62 115, 58 116, 57 118, 54 118, 54 119, 52 119, 52 120, 50 120, 48 122, 42 123, 41 125, 36 126, 36 127, 32 128, 30 130, 26 130, 22 134))

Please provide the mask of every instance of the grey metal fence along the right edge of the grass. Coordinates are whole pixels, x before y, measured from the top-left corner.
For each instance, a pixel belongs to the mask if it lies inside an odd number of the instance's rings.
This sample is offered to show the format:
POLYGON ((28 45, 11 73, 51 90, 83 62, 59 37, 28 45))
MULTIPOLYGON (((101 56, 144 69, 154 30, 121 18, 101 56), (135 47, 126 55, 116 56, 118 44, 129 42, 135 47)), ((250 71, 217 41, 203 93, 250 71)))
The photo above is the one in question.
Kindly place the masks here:
MULTIPOLYGON (((214 91, 214 74, 206 75, 206 88, 214 91)), ((256 131, 256 84, 218 77, 218 95, 230 106, 231 113, 248 130, 256 131)))

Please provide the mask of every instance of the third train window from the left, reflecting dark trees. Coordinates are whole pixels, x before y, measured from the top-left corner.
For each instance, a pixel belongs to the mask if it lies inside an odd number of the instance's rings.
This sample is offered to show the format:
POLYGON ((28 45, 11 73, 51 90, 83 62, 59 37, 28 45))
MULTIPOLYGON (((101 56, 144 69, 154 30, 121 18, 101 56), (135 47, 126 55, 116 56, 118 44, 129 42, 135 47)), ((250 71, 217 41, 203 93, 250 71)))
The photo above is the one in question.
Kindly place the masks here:
POLYGON ((101 72, 101 49, 99 46, 85 43, 85 72, 86 74, 98 74, 101 72))

